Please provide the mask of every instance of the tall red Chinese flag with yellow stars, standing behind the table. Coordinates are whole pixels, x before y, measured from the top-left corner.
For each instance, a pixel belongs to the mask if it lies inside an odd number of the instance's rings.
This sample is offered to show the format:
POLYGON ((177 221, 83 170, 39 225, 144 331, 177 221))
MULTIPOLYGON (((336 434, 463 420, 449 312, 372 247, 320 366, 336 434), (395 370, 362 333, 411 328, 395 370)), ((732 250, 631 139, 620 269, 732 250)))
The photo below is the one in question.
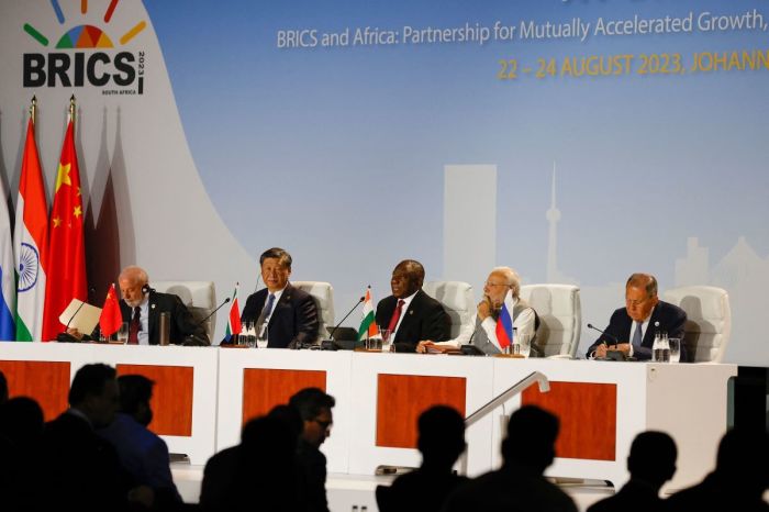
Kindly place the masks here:
POLYGON ((64 331, 58 318, 73 299, 88 300, 80 171, 71 116, 64 136, 48 229, 43 341, 55 340, 64 331))

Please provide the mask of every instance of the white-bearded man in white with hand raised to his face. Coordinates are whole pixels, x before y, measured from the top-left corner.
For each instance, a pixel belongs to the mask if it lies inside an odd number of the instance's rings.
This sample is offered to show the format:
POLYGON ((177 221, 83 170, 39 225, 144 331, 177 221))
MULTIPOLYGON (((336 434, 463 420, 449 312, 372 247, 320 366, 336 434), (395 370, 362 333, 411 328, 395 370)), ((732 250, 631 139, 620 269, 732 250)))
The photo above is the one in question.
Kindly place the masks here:
POLYGON ((478 310, 472 321, 462 325, 459 335, 447 342, 426 340, 419 343, 416 352, 450 352, 461 345, 472 344, 486 354, 500 354, 502 348, 497 340, 497 318, 502 302, 512 291, 513 296, 513 327, 516 335, 527 335, 532 344, 532 357, 539 355, 535 345, 535 334, 539 326, 536 311, 521 299, 521 278, 510 267, 497 267, 491 270, 483 286, 483 300, 478 303, 478 310))

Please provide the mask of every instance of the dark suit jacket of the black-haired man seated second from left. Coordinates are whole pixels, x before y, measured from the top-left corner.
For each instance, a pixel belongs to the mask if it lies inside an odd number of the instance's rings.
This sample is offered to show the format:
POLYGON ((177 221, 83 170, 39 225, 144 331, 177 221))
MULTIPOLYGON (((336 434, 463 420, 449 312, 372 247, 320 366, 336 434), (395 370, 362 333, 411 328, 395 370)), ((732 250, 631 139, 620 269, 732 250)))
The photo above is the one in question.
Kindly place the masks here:
MULTIPOLYGON (((256 322, 265 307, 267 288, 252 293, 243 308, 241 322, 256 322)), ((312 297, 289 282, 272 307, 269 319, 269 348, 293 348, 317 341, 317 307, 312 297)))

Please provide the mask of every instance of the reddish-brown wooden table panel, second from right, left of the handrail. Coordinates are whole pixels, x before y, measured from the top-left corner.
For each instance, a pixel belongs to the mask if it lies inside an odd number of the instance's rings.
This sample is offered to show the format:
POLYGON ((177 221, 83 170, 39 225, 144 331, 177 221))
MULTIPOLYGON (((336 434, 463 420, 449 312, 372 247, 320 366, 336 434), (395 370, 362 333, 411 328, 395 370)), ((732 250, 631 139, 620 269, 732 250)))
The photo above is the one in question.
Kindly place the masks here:
POLYGON ((416 447, 416 420, 433 405, 450 405, 465 416, 464 377, 379 374, 377 446, 416 447))

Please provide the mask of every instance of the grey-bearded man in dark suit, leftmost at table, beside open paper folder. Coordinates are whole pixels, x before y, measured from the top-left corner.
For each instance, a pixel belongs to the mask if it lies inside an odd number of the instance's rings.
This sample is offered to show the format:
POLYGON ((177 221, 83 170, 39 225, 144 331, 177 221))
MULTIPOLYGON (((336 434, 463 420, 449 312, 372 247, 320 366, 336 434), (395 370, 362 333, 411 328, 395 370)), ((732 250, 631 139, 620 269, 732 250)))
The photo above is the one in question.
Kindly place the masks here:
POLYGON ((160 293, 149 287, 149 276, 140 267, 130 266, 118 277, 120 312, 123 322, 129 322, 129 343, 157 345, 160 341, 160 313, 170 315, 170 343, 186 343, 192 336, 193 344, 209 345, 209 337, 202 325, 192 319, 179 297, 160 293), (135 337, 134 337, 135 336, 135 337))

